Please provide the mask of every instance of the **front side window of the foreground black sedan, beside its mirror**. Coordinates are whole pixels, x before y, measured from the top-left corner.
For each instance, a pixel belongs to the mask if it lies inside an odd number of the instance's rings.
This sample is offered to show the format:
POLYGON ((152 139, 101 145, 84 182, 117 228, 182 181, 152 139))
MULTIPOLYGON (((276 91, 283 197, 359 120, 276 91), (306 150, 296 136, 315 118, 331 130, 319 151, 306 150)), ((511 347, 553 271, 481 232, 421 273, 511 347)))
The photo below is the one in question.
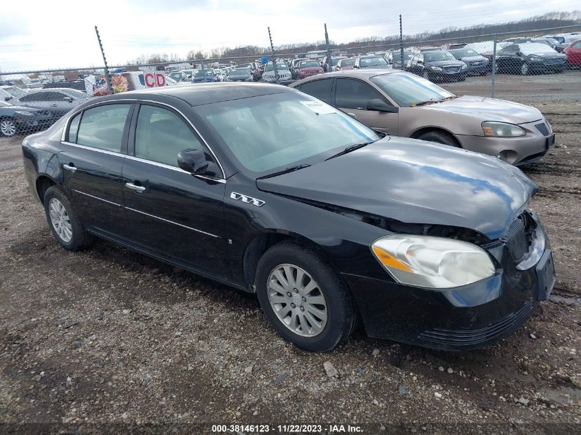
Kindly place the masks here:
POLYGON ((172 111, 142 105, 135 129, 135 157, 177 167, 177 154, 201 146, 186 122, 172 111))

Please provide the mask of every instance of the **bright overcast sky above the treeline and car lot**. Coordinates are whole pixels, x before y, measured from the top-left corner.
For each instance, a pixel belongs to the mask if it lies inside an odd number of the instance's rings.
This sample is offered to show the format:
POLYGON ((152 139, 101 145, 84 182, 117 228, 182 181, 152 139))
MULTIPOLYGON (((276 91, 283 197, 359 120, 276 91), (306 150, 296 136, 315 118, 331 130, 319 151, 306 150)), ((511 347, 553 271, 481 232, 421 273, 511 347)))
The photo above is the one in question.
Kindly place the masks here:
POLYGON ((502 23, 551 11, 572 11, 579 0, 105 0, 2 1, 0 70, 101 66, 98 25, 109 65, 140 54, 190 49, 303 43, 329 38, 404 34, 443 27, 502 23))

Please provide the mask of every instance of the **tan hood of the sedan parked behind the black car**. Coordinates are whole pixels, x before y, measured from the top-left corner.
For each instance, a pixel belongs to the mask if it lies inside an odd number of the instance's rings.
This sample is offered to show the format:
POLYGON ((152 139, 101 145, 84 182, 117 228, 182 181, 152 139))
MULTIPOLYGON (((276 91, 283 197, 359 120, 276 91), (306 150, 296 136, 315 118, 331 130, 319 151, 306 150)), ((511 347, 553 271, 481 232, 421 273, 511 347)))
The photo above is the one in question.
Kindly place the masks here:
POLYGON ((455 115, 470 115, 483 121, 501 121, 526 124, 542 119, 542 113, 534 107, 496 98, 461 96, 435 104, 420 106, 422 111, 444 111, 455 115))

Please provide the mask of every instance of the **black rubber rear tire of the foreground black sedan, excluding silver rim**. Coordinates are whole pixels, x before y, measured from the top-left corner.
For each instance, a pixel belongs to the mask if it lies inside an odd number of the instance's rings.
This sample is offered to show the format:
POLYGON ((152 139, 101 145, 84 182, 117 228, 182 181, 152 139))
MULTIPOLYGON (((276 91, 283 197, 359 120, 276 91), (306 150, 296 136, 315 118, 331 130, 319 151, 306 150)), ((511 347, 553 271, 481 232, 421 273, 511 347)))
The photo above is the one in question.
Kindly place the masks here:
POLYGON ((84 249, 89 247, 91 243, 94 241, 94 237, 91 236, 83 227, 83 223, 81 223, 80 219, 71 204, 71 201, 67 198, 67 195, 63 190, 58 188, 58 186, 50 186, 45 192, 45 197, 43 201, 45 205, 45 215, 48 222, 48 226, 52 232, 56 241, 65 249, 69 251, 78 251, 80 249, 84 249), (68 216, 68 220, 70 223, 70 227, 72 228, 72 236, 70 240, 65 240, 63 236, 59 235, 55 225, 52 223, 51 216, 50 216, 50 207, 51 207, 51 200, 56 199, 60 202, 64 208, 65 212, 68 216))

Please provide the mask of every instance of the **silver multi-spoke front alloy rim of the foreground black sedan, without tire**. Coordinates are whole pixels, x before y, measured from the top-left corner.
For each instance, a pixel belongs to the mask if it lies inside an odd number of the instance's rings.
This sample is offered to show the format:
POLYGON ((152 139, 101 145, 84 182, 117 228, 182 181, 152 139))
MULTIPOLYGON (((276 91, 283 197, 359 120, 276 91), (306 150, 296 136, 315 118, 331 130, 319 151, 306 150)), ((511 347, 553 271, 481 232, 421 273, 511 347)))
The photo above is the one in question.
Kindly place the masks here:
POLYGON ((296 265, 278 265, 267 282, 272 311, 289 330, 302 337, 315 337, 327 324, 327 300, 318 282, 296 265))

